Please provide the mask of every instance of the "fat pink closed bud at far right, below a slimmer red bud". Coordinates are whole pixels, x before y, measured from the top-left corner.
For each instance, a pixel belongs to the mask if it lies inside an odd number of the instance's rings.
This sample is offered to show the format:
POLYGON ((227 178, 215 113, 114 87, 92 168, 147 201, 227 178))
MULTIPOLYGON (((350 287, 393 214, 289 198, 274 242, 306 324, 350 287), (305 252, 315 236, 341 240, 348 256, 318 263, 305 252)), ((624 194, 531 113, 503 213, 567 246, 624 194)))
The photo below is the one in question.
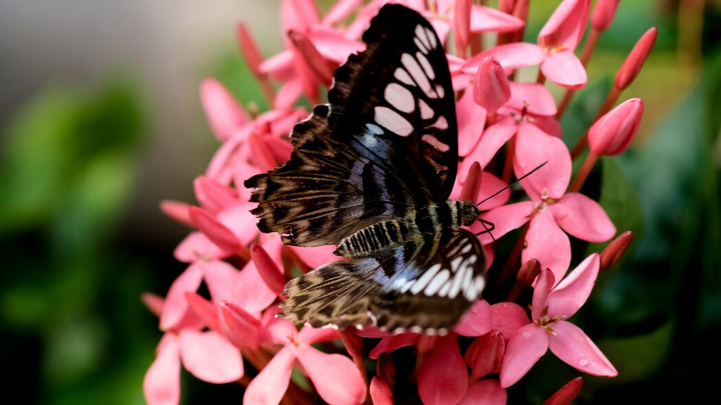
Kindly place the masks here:
POLYGON ((596 155, 615 156, 631 143, 643 115, 643 100, 629 99, 599 118, 588 130, 588 146, 596 155))

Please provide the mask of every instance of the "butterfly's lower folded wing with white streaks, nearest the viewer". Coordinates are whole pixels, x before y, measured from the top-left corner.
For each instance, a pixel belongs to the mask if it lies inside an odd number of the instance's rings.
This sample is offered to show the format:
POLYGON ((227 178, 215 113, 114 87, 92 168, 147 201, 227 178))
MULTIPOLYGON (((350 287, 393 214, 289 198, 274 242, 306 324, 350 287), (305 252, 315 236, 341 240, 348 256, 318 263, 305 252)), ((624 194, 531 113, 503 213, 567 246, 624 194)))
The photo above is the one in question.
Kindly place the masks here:
POLYGON ((484 285, 483 249, 459 228, 377 256, 325 264, 288 282, 281 308, 288 319, 312 326, 442 333, 484 285))

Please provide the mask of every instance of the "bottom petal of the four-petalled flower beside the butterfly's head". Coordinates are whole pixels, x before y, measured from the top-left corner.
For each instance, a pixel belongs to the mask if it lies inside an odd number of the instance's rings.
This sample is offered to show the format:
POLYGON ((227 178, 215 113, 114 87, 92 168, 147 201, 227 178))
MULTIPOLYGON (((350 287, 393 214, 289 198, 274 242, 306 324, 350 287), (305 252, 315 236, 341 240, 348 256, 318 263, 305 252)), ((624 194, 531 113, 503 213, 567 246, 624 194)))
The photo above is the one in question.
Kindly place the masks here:
POLYGON ((537 259, 541 268, 549 268, 558 283, 571 264, 571 242, 561 231, 551 213, 541 211, 531 219, 531 226, 526 233, 528 246, 523 249, 521 262, 537 259))

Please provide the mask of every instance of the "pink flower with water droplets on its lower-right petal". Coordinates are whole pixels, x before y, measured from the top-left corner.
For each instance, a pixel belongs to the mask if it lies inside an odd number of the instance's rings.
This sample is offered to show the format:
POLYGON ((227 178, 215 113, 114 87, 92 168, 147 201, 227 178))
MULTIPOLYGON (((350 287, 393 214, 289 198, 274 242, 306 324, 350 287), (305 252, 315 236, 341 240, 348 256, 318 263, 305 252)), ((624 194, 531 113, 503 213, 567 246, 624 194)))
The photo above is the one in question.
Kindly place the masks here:
POLYGON ((598 254, 591 254, 552 290, 548 271, 541 272, 531 306, 533 321, 518 329, 508 342, 500 372, 501 386, 512 386, 520 380, 549 349, 585 373, 603 377, 618 374, 596 344, 578 326, 566 321, 588 299, 599 263, 598 254))

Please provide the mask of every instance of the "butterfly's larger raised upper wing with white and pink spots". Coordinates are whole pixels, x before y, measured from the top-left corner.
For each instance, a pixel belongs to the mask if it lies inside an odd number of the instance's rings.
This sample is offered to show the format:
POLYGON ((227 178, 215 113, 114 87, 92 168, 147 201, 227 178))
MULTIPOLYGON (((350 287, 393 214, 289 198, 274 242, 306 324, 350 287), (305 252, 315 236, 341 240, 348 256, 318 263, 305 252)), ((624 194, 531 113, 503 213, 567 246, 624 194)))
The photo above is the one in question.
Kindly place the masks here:
POLYGON ((451 192, 454 94, 433 27, 389 4, 363 40, 367 49, 335 72, 330 104, 293 128, 291 159, 245 182, 260 230, 286 244, 337 244, 451 192))

